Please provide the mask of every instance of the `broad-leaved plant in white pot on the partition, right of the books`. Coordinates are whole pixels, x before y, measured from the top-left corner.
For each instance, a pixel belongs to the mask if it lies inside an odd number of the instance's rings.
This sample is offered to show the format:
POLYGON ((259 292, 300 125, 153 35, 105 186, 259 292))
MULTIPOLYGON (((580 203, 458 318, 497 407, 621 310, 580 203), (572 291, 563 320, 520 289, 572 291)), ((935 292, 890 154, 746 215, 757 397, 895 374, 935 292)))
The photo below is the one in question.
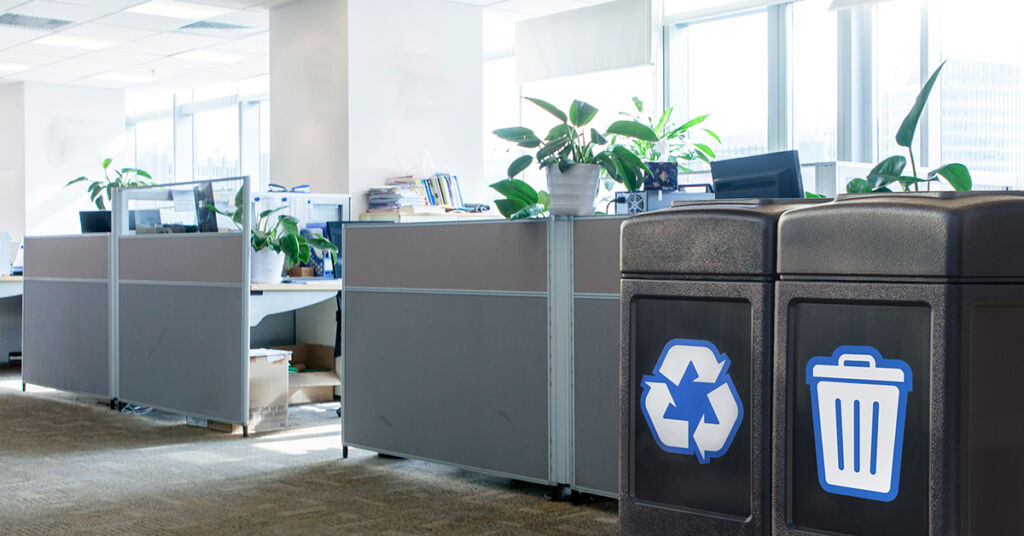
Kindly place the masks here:
POLYGON ((602 134, 596 128, 586 128, 597 115, 597 109, 587 102, 573 100, 566 114, 540 98, 526 99, 555 116, 560 123, 543 139, 522 126, 500 128, 495 134, 536 152, 539 166, 547 171, 550 194, 536 192, 525 181, 515 178, 534 163, 535 156, 523 155, 515 159, 509 166, 508 180, 490 184, 505 196, 495 202, 505 217, 519 219, 543 215, 547 211, 555 215, 591 214, 602 169, 630 191, 637 190, 644 173, 650 172, 632 150, 609 143, 606 137, 656 141, 657 136, 649 127, 636 121, 615 121, 602 134))

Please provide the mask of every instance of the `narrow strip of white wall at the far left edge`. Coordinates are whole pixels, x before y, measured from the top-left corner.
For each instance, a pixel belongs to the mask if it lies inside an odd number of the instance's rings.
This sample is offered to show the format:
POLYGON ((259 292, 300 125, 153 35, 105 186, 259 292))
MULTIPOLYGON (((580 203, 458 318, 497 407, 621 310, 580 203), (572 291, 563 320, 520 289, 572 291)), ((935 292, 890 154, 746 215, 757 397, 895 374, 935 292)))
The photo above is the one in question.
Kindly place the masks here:
POLYGON ((24 83, 0 86, 0 232, 25 236, 24 83))

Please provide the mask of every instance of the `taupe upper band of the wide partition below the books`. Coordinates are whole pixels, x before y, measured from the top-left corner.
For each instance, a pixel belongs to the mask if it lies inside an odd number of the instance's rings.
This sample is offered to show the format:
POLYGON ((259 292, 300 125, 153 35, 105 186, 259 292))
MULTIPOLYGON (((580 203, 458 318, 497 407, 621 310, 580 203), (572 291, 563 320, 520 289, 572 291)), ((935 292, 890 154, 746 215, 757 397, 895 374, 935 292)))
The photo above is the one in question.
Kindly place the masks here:
POLYGON ((547 232, 545 221, 347 228, 345 286, 544 292, 547 232))

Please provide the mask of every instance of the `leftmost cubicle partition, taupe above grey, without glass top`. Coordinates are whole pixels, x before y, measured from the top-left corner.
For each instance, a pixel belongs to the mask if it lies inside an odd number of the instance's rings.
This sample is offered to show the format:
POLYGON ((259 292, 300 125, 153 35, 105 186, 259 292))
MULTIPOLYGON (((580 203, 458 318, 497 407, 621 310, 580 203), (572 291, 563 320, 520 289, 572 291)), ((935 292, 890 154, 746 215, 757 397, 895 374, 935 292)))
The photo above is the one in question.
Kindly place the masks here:
POLYGON ((109 233, 25 239, 24 383, 117 398, 110 244, 109 233))

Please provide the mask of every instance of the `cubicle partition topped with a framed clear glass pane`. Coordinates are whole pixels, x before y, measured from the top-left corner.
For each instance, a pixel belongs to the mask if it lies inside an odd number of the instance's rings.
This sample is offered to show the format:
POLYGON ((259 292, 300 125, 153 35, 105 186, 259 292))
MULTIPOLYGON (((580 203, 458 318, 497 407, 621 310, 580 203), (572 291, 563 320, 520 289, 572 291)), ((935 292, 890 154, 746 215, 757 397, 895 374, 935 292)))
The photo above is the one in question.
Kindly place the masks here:
MULTIPOLYGON (((211 182, 248 195, 246 179, 211 182)), ((134 207, 173 213, 176 198, 191 190, 193 183, 124 190, 115 200, 119 397, 246 425, 248 211, 243 230, 207 233, 136 234, 124 217, 134 207)))

